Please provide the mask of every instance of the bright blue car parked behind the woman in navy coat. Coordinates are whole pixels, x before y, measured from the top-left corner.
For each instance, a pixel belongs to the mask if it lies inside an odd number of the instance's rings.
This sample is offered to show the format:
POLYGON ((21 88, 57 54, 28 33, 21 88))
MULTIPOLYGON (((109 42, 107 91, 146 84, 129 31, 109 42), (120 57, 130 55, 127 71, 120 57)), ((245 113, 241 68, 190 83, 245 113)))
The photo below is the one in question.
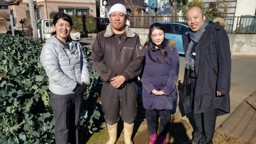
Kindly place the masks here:
MULTIPOLYGON (((152 22, 151 24, 156 23, 152 22)), ((173 39, 177 41, 176 47, 178 48, 179 54, 184 54, 183 43, 182 43, 182 35, 185 35, 186 32, 189 31, 188 26, 183 23, 177 22, 158 22, 161 23, 165 28, 165 38, 173 39)))

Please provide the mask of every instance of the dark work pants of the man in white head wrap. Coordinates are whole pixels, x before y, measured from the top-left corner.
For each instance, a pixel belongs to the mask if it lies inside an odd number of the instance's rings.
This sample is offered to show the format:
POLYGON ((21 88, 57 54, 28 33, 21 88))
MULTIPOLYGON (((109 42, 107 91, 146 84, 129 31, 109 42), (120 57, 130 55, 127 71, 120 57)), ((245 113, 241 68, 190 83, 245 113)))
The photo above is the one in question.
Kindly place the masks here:
POLYGON ((119 111, 121 111, 122 120, 131 124, 137 116, 137 85, 134 83, 117 89, 103 84, 101 102, 107 124, 112 125, 118 121, 119 111))

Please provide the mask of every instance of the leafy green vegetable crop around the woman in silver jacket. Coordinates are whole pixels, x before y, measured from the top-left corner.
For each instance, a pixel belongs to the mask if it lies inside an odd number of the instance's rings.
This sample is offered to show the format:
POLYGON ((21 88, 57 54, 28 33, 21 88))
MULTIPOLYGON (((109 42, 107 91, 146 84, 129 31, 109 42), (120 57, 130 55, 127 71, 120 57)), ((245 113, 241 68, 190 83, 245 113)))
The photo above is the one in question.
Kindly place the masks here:
MULTIPOLYGON (((49 100, 49 80, 40 53, 43 43, 31 38, 0 34, 0 143, 54 144, 54 116, 49 100)), ((84 95, 80 125, 84 132, 98 130, 102 119, 102 82, 94 70, 91 49, 83 47, 91 84, 84 95)))

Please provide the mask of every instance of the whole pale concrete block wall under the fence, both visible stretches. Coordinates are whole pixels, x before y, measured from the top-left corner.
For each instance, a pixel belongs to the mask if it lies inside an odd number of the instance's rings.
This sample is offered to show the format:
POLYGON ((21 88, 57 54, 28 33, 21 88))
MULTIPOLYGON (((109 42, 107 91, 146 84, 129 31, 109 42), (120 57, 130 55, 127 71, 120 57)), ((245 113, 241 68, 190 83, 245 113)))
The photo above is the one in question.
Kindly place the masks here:
MULTIPOLYGON (((148 38, 148 28, 130 28, 140 37, 142 46, 148 38)), ((256 34, 228 34, 231 56, 256 57, 256 34)))

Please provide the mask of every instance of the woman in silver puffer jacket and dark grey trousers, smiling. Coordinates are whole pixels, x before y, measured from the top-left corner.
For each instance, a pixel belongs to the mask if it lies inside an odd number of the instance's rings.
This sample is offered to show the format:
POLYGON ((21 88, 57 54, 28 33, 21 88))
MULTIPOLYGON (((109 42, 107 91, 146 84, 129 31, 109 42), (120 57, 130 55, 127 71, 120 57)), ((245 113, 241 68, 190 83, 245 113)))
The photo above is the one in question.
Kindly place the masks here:
POLYGON ((79 143, 79 115, 90 83, 89 66, 81 44, 68 37, 72 25, 69 15, 55 15, 52 25, 55 32, 47 39, 40 55, 49 77, 56 144, 79 143))

